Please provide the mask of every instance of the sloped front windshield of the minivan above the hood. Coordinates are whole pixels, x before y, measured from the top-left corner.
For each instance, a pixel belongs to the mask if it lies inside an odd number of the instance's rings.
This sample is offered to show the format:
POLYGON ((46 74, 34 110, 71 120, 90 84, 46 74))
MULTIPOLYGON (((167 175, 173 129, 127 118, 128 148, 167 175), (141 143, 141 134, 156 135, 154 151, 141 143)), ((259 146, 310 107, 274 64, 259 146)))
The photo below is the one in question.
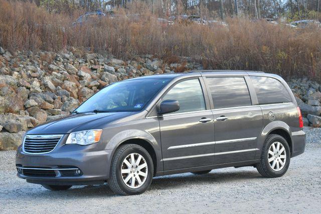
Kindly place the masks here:
POLYGON ((87 99, 75 113, 138 112, 169 80, 151 78, 113 83, 87 99))

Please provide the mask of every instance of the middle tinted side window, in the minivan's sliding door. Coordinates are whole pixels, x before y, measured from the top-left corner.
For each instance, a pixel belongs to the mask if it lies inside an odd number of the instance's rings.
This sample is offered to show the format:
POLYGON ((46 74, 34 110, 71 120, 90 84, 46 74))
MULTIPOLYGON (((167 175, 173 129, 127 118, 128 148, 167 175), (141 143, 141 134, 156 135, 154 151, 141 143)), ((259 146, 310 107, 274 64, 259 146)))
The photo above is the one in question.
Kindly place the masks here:
POLYGON ((251 105, 251 97, 243 77, 207 78, 215 109, 251 105))

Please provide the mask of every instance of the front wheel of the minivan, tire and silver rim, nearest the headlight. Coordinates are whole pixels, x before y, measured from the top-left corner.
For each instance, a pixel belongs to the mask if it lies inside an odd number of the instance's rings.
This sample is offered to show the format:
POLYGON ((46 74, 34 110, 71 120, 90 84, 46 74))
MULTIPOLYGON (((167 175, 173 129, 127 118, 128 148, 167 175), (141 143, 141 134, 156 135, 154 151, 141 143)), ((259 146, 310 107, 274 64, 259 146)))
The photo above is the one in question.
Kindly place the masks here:
POLYGON ((141 194, 152 181, 153 168, 152 159, 143 147, 136 144, 122 145, 115 151, 111 161, 109 186, 120 195, 141 194))

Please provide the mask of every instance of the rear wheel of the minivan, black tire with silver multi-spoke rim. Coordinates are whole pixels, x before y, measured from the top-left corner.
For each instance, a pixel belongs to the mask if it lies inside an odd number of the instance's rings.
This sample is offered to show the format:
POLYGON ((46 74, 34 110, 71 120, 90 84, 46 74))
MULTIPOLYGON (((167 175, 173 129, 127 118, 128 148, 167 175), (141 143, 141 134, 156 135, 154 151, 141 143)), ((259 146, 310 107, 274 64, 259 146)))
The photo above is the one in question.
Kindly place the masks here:
POLYGON ((256 164, 256 169, 263 177, 281 177, 289 167, 290 157, 290 147, 287 141, 280 135, 268 135, 263 145, 261 160, 256 164), (278 143, 280 143, 280 145, 277 150, 278 143), (284 165, 282 165, 282 163, 284 165))

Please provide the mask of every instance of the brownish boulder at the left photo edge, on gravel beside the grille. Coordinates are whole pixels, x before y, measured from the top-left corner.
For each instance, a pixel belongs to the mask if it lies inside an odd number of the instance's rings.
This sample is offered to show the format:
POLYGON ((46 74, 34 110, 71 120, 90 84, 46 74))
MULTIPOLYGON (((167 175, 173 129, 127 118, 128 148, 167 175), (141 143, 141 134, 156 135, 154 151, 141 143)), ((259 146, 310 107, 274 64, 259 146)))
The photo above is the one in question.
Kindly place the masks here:
POLYGON ((0 132, 0 150, 16 150, 21 145, 25 132, 0 132))

